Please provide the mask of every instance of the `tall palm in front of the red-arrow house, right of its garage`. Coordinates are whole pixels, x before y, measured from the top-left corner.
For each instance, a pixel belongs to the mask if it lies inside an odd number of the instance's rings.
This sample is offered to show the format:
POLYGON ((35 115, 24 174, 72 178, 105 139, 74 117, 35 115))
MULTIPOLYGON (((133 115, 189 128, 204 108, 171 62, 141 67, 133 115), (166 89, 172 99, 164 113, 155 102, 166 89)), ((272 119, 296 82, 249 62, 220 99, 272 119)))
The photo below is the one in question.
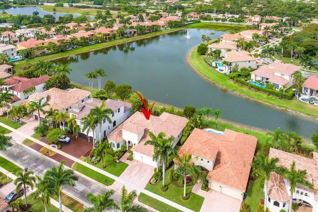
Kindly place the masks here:
POLYGON ((160 132, 156 137, 156 135, 150 131, 148 133, 148 136, 151 140, 146 141, 145 145, 150 144, 154 146, 153 160, 162 163, 162 187, 164 187, 165 164, 167 162, 167 159, 169 158, 169 155, 174 155, 176 153, 174 148, 172 148, 171 146, 174 137, 170 136, 168 139, 164 139, 165 133, 160 132))

